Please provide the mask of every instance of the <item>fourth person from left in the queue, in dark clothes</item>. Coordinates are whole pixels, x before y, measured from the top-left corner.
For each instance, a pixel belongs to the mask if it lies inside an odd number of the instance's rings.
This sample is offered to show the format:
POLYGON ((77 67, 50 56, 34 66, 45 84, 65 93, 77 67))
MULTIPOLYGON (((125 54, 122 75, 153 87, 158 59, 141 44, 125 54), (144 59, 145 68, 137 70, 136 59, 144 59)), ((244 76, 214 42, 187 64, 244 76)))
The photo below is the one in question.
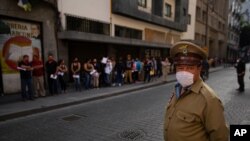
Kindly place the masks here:
POLYGON ((58 67, 57 67, 57 74, 58 74, 58 80, 61 86, 61 90, 65 93, 67 89, 67 84, 65 81, 65 74, 68 72, 68 68, 64 63, 64 60, 58 61, 58 67))

